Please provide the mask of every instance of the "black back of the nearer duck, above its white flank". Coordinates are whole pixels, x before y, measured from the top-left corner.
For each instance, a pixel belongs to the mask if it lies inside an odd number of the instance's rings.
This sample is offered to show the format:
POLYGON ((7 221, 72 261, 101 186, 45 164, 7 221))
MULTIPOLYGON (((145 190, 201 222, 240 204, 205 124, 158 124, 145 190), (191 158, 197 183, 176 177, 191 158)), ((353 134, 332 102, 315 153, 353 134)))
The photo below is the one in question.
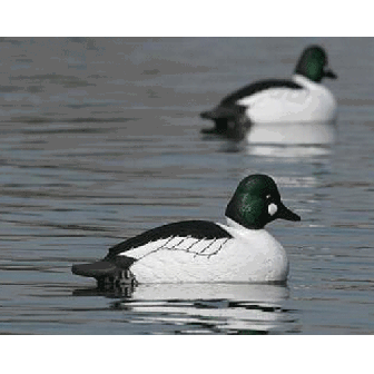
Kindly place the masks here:
MULTIPOLYGON (((114 259, 120 253, 146 245, 149 242, 166 239, 171 236, 194 237, 196 239, 232 238, 220 226, 208 220, 183 220, 147 230, 109 248, 105 259, 114 259)), ((122 256, 121 256, 122 257, 122 256)))

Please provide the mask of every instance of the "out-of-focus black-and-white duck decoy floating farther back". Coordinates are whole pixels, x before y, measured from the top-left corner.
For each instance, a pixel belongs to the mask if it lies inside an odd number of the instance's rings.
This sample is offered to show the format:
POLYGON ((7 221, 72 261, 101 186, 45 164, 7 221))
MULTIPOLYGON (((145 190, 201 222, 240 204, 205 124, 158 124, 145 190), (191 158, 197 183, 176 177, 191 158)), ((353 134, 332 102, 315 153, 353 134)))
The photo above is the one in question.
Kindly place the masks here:
POLYGON ((328 69, 327 55, 319 46, 306 48, 291 79, 260 80, 227 97, 200 117, 215 122, 204 134, 243 139, 254 124, 334 122, 336 101, 321 85, 323 78, 336 79, 328 69))

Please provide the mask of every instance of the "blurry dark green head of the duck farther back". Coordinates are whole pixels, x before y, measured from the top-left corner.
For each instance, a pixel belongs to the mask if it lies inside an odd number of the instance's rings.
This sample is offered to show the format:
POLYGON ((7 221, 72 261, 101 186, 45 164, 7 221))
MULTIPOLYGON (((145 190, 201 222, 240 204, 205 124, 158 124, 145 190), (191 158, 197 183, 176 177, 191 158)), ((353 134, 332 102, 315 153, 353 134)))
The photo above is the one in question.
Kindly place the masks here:
POLYGON ((327 63, 325 50, 318 46, 311 46, 303 51, 296 65, 295 73, 315 82, 319 82, 325 77, 336 79, 337 76, 328 69, 327 63))

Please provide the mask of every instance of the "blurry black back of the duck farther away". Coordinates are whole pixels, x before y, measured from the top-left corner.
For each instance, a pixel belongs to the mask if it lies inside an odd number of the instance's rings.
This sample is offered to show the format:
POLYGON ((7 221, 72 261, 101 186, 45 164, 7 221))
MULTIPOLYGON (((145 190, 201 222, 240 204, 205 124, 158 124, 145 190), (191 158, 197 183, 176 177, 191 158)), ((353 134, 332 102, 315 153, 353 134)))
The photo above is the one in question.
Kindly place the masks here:
POLYGON ((292 88, 292 89, 302 89, 303 87, 295 83, 288 79, 268 79, 268 80, 260 80, 258 82, 252 83, 249 86, 243 87, 237 91, 226 96, 222 101, 220 105, 229 105, 234 104, 244 97, 258 94, 260 91, 270 89, 270 88, 292 88))

